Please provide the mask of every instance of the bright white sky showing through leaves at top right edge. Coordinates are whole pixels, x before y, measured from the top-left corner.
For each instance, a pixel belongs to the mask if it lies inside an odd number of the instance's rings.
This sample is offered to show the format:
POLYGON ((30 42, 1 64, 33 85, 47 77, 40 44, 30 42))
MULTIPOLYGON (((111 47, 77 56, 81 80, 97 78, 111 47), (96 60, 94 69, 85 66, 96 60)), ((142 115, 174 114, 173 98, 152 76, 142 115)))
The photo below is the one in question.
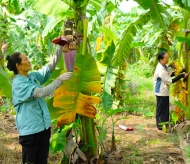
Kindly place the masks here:
MULTIPOLYGON (((172 4, 173 0, 164 0, 168 4, 172 4)), ((124 12, 129 12, 132 7, 138 6, 138 3, 136 3, 134 0, 128 0, 128 1, 122 1, 120 4, 120 9, 124 12)))

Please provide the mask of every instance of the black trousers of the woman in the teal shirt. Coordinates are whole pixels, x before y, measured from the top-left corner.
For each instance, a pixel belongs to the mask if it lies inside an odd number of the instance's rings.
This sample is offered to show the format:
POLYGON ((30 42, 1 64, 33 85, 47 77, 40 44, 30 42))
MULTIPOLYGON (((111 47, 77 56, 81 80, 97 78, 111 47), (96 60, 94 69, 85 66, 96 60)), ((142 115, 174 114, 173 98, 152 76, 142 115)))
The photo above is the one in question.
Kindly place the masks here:
POLYGON ((49 128, 39 133, 19 137, 23 164, 47 164, 50 135, 49 128))

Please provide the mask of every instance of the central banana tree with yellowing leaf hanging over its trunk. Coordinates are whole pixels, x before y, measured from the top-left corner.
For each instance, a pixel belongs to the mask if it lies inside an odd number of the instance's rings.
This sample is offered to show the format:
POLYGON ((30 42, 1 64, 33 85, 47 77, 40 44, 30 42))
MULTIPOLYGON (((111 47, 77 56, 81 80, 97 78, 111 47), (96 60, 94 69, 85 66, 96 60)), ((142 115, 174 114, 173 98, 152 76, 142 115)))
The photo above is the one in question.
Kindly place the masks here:
MULTIPOLYGON (((92 103, 99 103, 98 97, 92 96, 92 92, 101 92, 100 74, 98 72, 95 60, 92 58, 89 48, 87 47, 87 29, 88 20, 86 18, 87 1, 28 1, 35 10, 46 15, 54 16, 58 21, 62 21, 65 17, 74 18, 76 25, 76 33, 82 37, 82 43, 78 45, 77 59, 73 78, 65 83, 55 92, 54 106, 58 109, 53 113, 57 113, 57 123, 62 126, 65 123, 65 116, 72 113, 72 121, 76 114, 80 114, 82 122, 81 143, 86 146, 86 155, 88 158, 97 155, 97 141, 95 135, 94 118, 96 109, 92 103), (67 3, 67 4, 66 4, 67 3), (46 10, 42 9, 44 6, 46 10), (47 8, 55 6, 51 12, 47 8), (74 12, 76 14, 74 15, 74 12), (63 93, 66 93, 63 94, 63 93), (92 117, 92 118, 89 118, 92 117)), ((101 7, 100 1, 90 1, 89 4, 95 4, 101 7)), ((58 22, 57 21, 57 22, 58 22)), ((56 21, 55 21, 56 23, 56 21)), ((55 26, 56 24, 54 24, 55 26)))

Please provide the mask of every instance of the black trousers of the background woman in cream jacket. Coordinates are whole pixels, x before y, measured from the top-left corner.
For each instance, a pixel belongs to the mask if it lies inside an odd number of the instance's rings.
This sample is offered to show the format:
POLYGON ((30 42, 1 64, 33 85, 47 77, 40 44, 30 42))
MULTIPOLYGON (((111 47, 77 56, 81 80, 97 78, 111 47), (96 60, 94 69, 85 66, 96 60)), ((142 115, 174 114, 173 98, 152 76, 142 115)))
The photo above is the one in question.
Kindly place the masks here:
POLYGON ((169 96, 156 96, 156 125, 159 130, 162 130, 160 122, 169 121, 169 96))

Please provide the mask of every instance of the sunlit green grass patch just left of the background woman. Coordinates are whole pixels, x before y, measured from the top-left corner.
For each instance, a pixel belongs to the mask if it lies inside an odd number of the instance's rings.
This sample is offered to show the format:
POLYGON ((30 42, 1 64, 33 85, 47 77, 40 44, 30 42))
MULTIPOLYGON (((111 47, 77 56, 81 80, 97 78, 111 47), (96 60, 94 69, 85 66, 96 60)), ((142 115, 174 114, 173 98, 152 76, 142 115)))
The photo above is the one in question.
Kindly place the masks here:
POLYGON ((156 99, 150 66, 146 63, 128 65, 126 77, 126 107, 138 108, 145 116, 154 116, 156 99))

